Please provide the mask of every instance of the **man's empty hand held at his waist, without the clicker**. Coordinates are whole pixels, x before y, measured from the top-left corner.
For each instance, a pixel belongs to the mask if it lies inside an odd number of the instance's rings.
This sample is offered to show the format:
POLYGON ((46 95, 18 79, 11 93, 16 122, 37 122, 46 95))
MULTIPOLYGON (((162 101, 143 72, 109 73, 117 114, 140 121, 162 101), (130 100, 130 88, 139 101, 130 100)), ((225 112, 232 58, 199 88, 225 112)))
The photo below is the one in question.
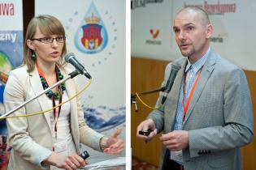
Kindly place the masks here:
POLYGON ((168 134, 162 134, 160 140, 170 151, 180 151, 189 146, 189 132, 174 130, 168 134))

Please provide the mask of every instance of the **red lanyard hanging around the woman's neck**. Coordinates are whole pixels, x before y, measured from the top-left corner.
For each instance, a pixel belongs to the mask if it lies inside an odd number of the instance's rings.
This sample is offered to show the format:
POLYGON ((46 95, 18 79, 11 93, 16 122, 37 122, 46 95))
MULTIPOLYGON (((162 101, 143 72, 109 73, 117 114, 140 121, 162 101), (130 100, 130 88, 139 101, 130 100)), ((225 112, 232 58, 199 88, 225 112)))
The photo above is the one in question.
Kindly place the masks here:
MULTIPOLYGON (((42 71, 41 71, 41 69, 40 69, 40 67, 38 65, 37 65, 37 71, 38 71, 38 74, 41 75, 41 77, 46 81, 46 77, 42 73, 42 71)), ((55 72, 56 72, 57 82, 59 82, 59 76, 58 76, 58 73, 57 73, 57 67, 55 69, 55 72)), ((47 81, 46 81, 46 83, 47 83, 47 81)), ((47 83, 47 85, 49 87, 48 83, 47 83)), ((62 88, 59 87, 59 86, 58 86, 58 91, 59 91, 59 104, 61 104, 62 101, 63 101, 63 91, 62 91, 62 88)), ((53 93, 52 101, 53 101, 53 108, 54 108, 56 106, 54 93, 53 93)), ((58 113, 56 112, 56 108, 54 108, 54 133, 55 133, 55 138, 57 138, 57 122, 58 122, 58 119, 59 119, 60 110, 61 110, 61 106, 59 106, 58 113)))

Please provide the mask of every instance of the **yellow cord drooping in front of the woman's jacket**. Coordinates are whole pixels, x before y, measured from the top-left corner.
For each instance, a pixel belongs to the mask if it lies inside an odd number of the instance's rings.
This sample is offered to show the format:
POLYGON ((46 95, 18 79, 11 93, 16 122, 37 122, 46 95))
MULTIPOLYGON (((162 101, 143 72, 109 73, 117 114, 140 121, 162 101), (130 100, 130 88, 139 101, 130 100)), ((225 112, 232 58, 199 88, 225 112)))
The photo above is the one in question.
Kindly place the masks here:
MULTIPOLYGON (((69 98, 69 100, 66 100, 66 101, 64 101, 63 103, 56 105, 54 108, 58 108, 59 106, 61 106, 61 105, 63 105, 63 104, 66 104, 68 101, 74 99, 76 96, 79 96, 81 92, 85 91, 85 89, 89 87, 89 85, 90 85, 91 82, 92 82, 92 79, 89 79, 89 83, 87 83, 84 88, 82 88, 82 89, 81 89, 80 91, 78 91, 74 96, 72 96, 71 98, 69 98)), ((17 115, 17 116, 11 116, 11 117, 0 117, 0 120, 2 120, 2 119, 10 119, 10 118, 15 118, 15 117, 32 117, 32 116, 36 116, 36 115, 38 115, 38 114, 47 113, 47 112, 53 110, 54 108, 50 108, 50 109, 45 110, 45 111, 40 111, 40 112, 37 112, 37 113, 31 113, 31 114, 26 114, 26 115, 17 115)))

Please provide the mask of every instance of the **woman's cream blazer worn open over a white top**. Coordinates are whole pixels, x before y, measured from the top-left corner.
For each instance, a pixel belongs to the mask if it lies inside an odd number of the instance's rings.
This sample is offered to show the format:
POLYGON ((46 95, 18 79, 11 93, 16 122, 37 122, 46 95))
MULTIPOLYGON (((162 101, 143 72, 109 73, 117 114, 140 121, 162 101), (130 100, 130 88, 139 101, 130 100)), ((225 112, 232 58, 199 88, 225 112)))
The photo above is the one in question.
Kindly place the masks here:
MULTIPOLYGON (((71 70, 61 71, 64 78, 67 77, 67 73, 72 72, 71 70)), ((69 79, 65 83, 67 96, 69 97, 74 96, 77 91, 77 83, 74 81, 74 79, 69 79)), ((4 91, 6 112, 23 104, 24 101, 31 99, 41 91, 43 91, 43 87, 37 74, 37 68, 31 73, 27 72, 27 66, 12 70, 4 91)), ((49 105, 46 100, 46 95, 40 96, 11 116, 36 113, 52 108, 52 105, 49 105)), ((77 153, 80 153, 80 142, 100 151, 99 139, 102 134, 98 134, 86 125, 79 97, 71 100, 70 104, 70 128, 77 153)), ((41 167, 41 161, 49 157, 52 152, 53 141, 50 127, 49 113, 33 117, 7 119, 9 142, 12 147, 8 169, 37 170, 43 168, 41 167)))

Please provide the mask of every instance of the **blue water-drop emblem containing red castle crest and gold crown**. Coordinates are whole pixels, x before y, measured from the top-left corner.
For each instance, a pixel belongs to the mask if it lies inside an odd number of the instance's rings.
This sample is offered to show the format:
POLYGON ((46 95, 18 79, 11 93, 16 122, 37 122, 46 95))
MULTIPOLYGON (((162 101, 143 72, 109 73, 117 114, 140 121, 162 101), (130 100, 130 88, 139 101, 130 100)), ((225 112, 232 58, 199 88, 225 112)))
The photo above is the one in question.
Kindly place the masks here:
POLYGON ((105 49, 106 44, 106 27, 92 2, 76 32, 76 49, 82 53, 99 53, 105 49))

